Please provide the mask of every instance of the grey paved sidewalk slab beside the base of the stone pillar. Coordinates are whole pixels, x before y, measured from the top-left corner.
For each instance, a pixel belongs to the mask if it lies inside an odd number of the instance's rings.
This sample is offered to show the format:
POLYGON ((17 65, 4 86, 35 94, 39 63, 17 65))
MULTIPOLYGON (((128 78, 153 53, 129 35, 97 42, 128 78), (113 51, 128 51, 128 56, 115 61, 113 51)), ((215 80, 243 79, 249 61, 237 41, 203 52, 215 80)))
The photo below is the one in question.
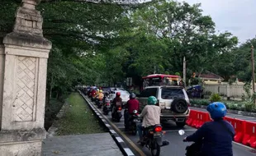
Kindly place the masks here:
POLYGON ((109 133, 66 135, 43 141, 42 156, 121 156, 109 133))

